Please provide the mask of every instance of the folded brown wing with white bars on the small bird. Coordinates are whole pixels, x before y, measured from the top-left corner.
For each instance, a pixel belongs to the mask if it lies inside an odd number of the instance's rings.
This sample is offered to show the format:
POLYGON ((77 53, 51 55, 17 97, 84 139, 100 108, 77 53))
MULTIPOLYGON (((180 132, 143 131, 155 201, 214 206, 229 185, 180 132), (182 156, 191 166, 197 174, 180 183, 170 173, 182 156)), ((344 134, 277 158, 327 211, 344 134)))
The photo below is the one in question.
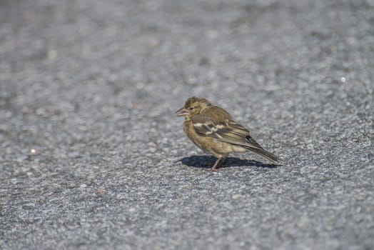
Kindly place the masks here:
MULTIPOLYGON (((222 118, 222 117, 221 117, 222 118)), ((229 144, 262 149, 251 137, 250 132, 241 124, 226 116, 226 119, 218 119, 217 116, 200 114, 192 117, 193 129, 200 136, 209 136, 229 144)))

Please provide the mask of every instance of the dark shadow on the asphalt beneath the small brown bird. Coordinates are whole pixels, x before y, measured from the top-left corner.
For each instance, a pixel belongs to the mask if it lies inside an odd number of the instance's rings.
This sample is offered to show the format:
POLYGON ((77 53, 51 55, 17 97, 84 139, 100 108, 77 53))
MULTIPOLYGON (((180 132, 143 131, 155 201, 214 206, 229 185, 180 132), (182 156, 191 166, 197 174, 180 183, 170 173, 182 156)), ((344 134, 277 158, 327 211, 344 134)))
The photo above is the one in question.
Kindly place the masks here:
MULTIPOLYGON (((216 162, 213 156, 188 156, 178 161, 186 166, 193 166, 196 168, 210 168, 216 162)), ((256 166, 261 168, 276 169, 279 165, 276 164, 263 164, 260 161, 253 161, 248 159, 239 159, 236 157, 228 157, 226 161, 220 166, 220 169, 234 166, 256 166)))

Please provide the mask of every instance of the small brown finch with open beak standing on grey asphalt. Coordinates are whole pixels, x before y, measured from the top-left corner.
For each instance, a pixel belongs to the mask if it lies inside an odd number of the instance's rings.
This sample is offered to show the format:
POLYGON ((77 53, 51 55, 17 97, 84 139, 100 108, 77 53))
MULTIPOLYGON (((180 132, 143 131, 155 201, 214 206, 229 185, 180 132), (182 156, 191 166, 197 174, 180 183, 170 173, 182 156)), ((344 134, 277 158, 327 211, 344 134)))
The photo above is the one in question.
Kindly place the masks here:
POLYGON ((227 111, 213 106, 207 99, 193 96, 176 114, 185 117, 183 130, 188 138, 207 154, 216 156, 217 161, 211 171, 217 171, 232 152, 252 151, 274 163, 280 160, 263 149, 248 129, 233 121, 227 111))

